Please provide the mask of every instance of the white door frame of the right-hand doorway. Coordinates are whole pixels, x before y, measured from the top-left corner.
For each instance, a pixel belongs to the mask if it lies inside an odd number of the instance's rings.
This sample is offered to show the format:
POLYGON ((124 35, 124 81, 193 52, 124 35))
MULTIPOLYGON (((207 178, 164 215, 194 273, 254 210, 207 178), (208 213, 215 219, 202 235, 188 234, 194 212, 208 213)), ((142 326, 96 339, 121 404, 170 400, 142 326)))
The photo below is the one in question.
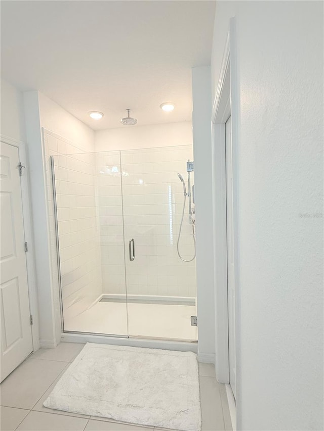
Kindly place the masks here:
POLYGON ((241 409, 240 371, 240 292, 238 244, 238 121, 239 92, 237 80, 237 54, 235 18, 229 20, 220 78, 212 108, 212 171, 213 171, 213 237, 214 237, 214 291, 215 291, 215 343, 216 377, 229 387, 228 299, 227 299, 227 217, 226 217, 226 155, 225 123, 231 116, 233 164, 233 228, 235 277, 235 354, 236 354, 236 408, 233 393, 227 388, 233 430, 241 409), (231 399, 232 397, 232 399, 231 399))

